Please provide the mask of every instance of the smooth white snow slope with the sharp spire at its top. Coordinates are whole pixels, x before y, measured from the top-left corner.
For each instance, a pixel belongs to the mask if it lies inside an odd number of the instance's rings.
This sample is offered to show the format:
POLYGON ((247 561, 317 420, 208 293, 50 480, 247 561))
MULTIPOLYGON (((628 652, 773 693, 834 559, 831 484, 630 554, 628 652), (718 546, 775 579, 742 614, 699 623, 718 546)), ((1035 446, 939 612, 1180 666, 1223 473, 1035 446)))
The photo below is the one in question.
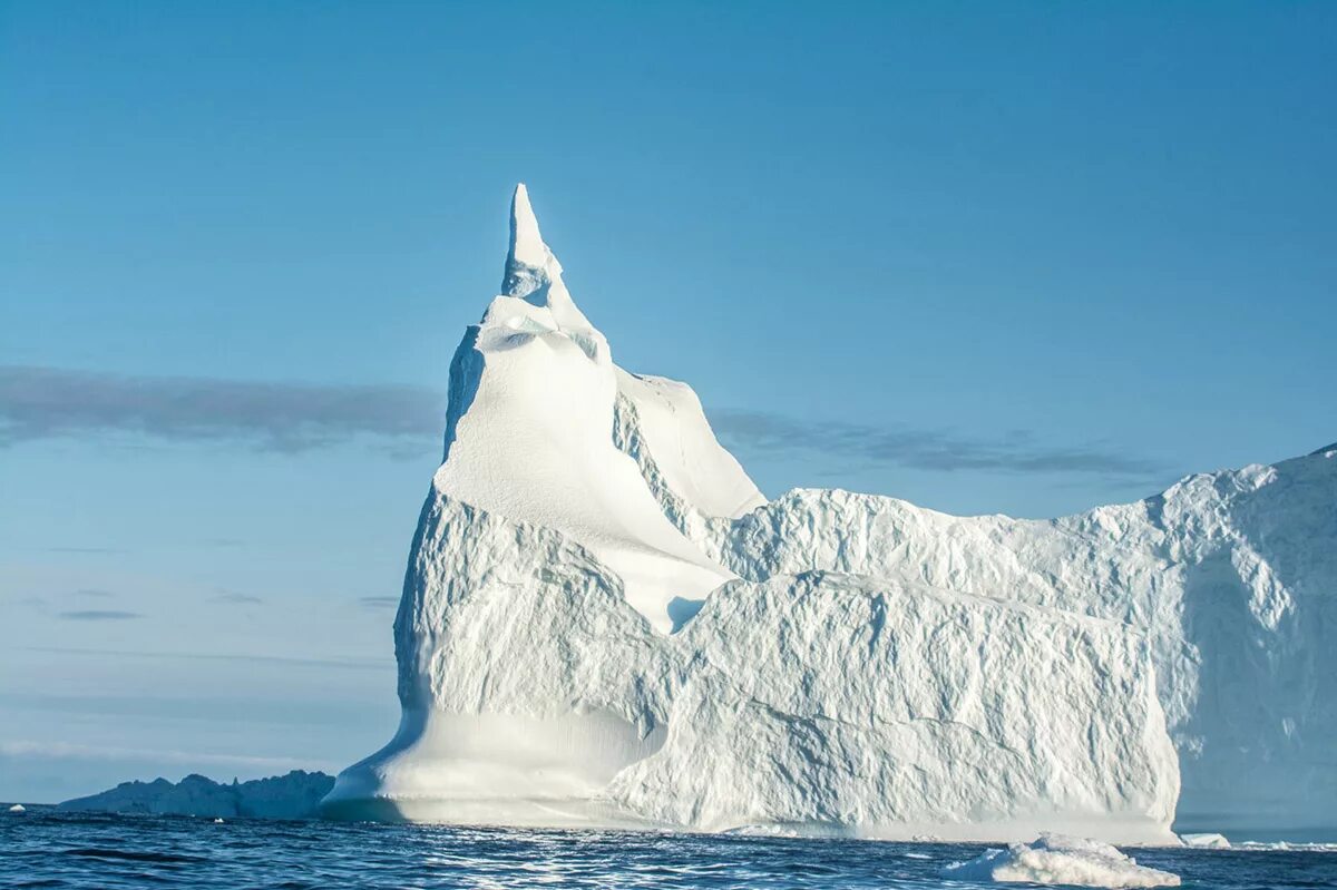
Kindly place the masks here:
POLYGON ((571 301, 521 187, 503 294, 451 367, 435 490, 562 532, 616 572, 632 607, 668 631, 675 600, 701 600, 733 575, 674 528, 615 448, 616 396, 608 342, 571 301))

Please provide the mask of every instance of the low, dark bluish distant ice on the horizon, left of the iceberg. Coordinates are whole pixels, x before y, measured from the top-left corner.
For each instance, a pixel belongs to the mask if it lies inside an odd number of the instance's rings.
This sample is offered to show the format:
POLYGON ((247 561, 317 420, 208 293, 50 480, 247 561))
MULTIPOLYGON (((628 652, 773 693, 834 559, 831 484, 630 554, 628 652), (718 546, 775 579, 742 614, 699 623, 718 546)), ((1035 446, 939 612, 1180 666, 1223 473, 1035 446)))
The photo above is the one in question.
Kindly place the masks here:
POLYGON ((57 810, 96 810, 202 818, 312 819, 334 776, 293 770, 287 775, 221 784, 191 774, 180 782, 122 782, 110 791, 60 803, 57 810))

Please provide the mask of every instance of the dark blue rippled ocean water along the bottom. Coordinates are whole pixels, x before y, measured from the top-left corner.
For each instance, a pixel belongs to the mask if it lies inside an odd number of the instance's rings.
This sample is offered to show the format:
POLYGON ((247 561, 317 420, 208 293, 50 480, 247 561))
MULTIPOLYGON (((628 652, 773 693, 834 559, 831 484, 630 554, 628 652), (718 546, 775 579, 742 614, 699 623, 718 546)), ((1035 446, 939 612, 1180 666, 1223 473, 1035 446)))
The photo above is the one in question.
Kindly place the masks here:
MULTIPOLYGON (((984 845, 0 814, 3 887, 971 887, 984 845)), ((1186 887, 1337 887, 1337 853, 1134 850, 1186 887)))

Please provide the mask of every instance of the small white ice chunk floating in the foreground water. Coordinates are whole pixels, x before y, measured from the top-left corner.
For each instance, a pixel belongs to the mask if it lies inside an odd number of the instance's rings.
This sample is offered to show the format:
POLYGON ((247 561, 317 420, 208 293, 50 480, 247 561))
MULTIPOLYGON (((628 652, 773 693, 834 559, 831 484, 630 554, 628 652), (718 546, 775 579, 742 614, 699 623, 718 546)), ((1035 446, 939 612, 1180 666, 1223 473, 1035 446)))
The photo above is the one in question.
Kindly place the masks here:
POLYGON ((956 881, 1059 883, 1078 887, 1178 887, 1179 875, 1139 866, 1108 843, 1043 834, 1031 845, 988 850, 943 870, 956 881))

